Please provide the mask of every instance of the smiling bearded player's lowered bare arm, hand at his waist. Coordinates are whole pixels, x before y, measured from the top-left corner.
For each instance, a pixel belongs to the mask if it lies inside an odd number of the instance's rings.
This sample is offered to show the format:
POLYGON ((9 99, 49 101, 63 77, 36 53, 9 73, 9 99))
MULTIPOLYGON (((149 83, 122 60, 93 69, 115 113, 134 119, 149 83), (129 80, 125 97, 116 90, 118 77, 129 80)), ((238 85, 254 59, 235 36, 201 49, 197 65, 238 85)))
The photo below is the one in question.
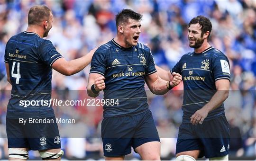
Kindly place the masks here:
POLYGON ((207 117, 208 113, 215 108, 219 107, 229 96, 229 80, 221 79, 215 81, 216 93, 212 96, 210 101, 201 109, 197 110, 191 116, 191 123, 197 125, 202 124, 203 120, 207 117))

